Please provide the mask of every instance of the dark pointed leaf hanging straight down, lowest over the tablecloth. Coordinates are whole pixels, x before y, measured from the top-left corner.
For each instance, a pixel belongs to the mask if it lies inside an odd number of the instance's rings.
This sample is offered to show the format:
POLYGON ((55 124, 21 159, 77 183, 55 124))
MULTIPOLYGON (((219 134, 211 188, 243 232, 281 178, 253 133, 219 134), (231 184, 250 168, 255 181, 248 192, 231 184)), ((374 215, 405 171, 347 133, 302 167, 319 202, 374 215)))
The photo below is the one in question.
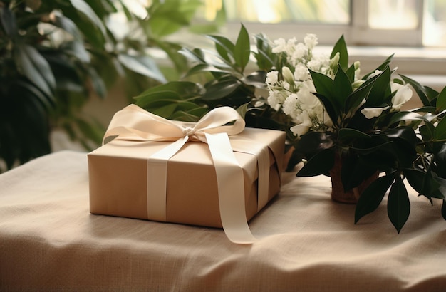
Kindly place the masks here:
POLYGON ((387 213, 395 229, 400 233, 406 221, 408 221, 410 213, 410 201, 408 191, 405 188, 403 179, 396 177, 396 181, 390 187, 387 213))

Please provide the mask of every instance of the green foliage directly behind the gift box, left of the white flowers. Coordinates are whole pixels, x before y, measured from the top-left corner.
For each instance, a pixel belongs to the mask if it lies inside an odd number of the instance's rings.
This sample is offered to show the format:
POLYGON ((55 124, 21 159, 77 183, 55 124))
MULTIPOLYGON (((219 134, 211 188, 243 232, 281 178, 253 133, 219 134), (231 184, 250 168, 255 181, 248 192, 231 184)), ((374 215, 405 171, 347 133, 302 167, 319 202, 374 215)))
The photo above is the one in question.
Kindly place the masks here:
POLYGON ((204 113, 221 105, 237 108, 248 127, 286 130, 286 115, 272 109, 262 96, 266 93, 266 72, 277 62, 271 43, 264 35, 255 36, 256 52, 251 52, 249 34, 242 26, 237 40, 208 35, 215 51, 182 48, 194 66, 182 80, 149 88, 135 97, 135 103, 152 113, 172 120, 197 121, 204 113), (254 72, 247 68, 254 66, 254 72))

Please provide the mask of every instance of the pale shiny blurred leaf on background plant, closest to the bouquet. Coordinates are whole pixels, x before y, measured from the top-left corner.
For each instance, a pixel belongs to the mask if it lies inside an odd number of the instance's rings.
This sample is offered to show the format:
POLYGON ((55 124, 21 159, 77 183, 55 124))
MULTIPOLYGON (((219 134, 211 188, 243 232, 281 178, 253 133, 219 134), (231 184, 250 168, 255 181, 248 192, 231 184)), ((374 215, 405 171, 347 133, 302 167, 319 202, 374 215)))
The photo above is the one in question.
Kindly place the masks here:
POLYGON ((118 55, 118 60, 130 71, 145 75, 149 78, 160 81, 161 83, 165 83, 167 81, 164 75, 162 75, 155 61, 148 56, 130 56, 121 53, 118 55))

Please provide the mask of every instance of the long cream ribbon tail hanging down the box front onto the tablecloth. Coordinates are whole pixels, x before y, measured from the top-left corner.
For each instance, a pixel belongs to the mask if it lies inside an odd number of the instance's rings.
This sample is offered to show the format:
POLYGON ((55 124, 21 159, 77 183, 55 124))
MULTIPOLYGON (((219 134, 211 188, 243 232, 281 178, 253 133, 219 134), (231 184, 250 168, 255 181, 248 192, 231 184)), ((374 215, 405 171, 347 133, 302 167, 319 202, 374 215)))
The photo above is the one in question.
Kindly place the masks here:
POLYGON ((219 209, 224 233, 236 244, 252 244, 245 202, 243 170, 237 162, 227 133, 207 134, 207 143, 217 174, 219 209))

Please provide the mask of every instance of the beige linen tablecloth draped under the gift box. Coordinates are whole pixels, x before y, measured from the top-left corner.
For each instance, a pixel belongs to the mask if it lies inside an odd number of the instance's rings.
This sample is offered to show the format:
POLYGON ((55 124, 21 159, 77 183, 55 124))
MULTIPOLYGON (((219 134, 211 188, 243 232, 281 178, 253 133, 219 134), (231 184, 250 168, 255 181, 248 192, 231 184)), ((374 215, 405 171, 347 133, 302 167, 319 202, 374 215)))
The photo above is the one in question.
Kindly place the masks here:
POLYGON ((438 202, 413 195, 397 234, 385 202, 354 225, 326 177, 284 178, 241 246, 220 229, 90 214, 85 153, 38 158, 0 175, 0 291, 446 291, 438 202))

